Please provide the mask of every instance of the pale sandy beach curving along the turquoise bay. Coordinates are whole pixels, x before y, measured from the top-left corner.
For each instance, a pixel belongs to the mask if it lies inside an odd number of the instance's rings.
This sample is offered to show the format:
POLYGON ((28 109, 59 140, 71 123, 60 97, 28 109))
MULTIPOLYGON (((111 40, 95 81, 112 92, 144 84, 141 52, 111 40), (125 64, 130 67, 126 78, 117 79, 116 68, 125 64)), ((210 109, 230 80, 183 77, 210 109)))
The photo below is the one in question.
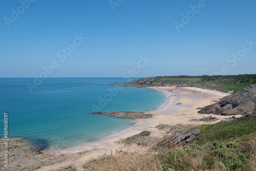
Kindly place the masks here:
MULTIPOLYGON (((199 88, 175 88, 175 87, 151 87, 163 92, 166 95, 166 102, 158 109, 149 111, 154 116, 150 119, 137 119, 135 125, 127 130, 122 131, 120 134, 109 136, 94 142, 92 144, 85 144, 84 146, 72 147, 63 151, 44 151, 44 154, 49 156, 65 156, 65 160, 56 162, 52 165, 40 167, 36 170, 55 170, 60 167, 73 165, 76 167, 82 167, 82 164, 92 158, 97 158, 103 154, 110 154, 116 150, 122 149, 123 151, 134 151, 138 149, 146 149, 146 147, 137 146, 137 144, 127 145, 120 141, 124 138, 141 133, 142 131, 151 131, 150 136, 163 137, 166 134, 155 126, 159 124, 204 124, 204 121, 198 121, 197 119, 208 117, 209 115, 198 114, 198 108, 212 104, 224 96, 227 93, 199 89, 199 88)), ((207 123, 216 123, 224 118, 231 116, 218 116, 214 115, 218 120, 210 121, 207 123)), ((236 116, 240 117, 240 116, 236 116)))

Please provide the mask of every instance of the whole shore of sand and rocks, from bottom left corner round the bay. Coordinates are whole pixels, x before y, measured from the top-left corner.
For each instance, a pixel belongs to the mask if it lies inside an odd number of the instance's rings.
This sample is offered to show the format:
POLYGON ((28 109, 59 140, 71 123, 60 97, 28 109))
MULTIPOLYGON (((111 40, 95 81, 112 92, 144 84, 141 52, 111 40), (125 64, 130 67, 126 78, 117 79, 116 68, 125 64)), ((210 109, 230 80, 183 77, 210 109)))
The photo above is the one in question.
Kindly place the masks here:
MULTIPOLYGON (((163 91, 170 98, 164 108, 159 108, 151 114, 144 112, 93 112, 95 115, 138 119, 131 130, 111 137, 107 141, 96 142, 89 146, 85 144, 83 147, 79 146, 75 149, 49 152, 38 151, 34 147, 27 146, 27 142, 22 142, 23 139, 10 139, 10 143, 13 145, 10 148, 9 166, 11 169, 9 170, 88 170, 86 167, 82 168, 82 164, 90 161, 91 158, 99 159, 102 155, 111 155, 112 150, 127 151, 129 149, 130 152, 138 149, 153 149, 158 152, 162 148, 183 148, 193 137, 201 134, 200 130, 194 129, 196 125, 206 122, 216 123, 227 118, 227 116, 216 115, 219 120, 215 120, 215 117, 203 117, 197 113, 199 107, 202 108, 213 103, 212 100, 224 97, 225 95, 222 93, 208 90, 199 91, 196 88, 163 86, 154 87, 154 89, 163 91), (179 96, 175 96, 177 94, 179 96), (203 94, 207 96, 200 96, 203 94)), ((93 161, 91 162, 93 163, 93 161)), ((99 161, 101 162, 101 159, 99 161)), ((1 163, 3 162, 1 161, 1 163)), ((6 168, 0 165, 0 169, 5 170, 6 168)))

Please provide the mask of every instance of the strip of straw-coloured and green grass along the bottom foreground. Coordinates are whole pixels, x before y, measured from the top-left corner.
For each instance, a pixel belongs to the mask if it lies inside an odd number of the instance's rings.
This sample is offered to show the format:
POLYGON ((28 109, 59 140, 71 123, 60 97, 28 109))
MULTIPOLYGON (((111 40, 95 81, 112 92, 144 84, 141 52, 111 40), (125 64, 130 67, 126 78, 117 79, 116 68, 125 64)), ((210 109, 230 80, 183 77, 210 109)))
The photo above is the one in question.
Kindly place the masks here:
MULTIPOLYGON (((85 170, 256 170, 256 133, 184 149, 116 152, 85 163, 85 170)), ((82 169, 81 169, 82 170, 82 169)))

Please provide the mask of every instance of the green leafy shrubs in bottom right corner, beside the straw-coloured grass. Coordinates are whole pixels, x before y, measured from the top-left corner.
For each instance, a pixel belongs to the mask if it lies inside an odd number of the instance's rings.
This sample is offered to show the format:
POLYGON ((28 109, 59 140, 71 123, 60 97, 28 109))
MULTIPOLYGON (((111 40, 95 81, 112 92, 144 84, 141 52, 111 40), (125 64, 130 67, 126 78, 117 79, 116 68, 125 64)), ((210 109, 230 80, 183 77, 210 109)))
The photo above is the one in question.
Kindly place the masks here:
POLYGON ((256 134, 236 141, 214 141, 203 146, 167 152, 163 170, 254 170, 256 134))

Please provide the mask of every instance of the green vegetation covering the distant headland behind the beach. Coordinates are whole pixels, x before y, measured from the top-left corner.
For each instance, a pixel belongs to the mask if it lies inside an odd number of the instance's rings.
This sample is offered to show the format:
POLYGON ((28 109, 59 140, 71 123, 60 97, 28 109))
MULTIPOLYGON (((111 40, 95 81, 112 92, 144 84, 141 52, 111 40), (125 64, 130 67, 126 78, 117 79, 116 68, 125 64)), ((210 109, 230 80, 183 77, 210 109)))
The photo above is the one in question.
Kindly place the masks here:
POLYGON ((203 75, 203 76, 163 76, 155 77, 154 82, 164 84, 187 84, 188 87, 218 90, 222 92, 233 91, 234 93, 256 83, 256 74, 244 75, 203 75))

